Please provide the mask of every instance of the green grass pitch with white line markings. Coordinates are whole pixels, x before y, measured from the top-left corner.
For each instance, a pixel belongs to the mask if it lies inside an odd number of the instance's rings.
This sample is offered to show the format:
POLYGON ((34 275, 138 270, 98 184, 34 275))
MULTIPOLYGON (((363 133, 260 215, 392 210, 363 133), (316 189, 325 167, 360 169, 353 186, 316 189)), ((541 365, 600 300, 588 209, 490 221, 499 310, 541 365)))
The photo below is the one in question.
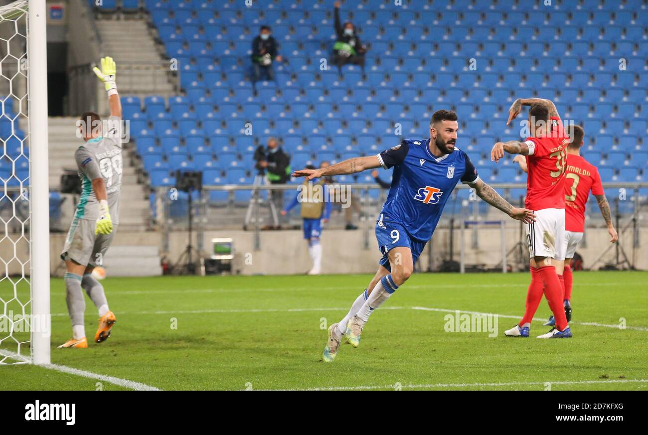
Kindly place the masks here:
MULTIPOLYGON (((52 279, 52 362, 163 390, 648 390, 646 272, 574 273, 574 337, 564 340, 533 338, 548 331, 539 321, 529 339, 503 337, 516 323, 507 317, 498 318, 496 338, 446 332, 448 312, 413 309, 519 316, 528 274, 414 274, 372 315, 358 348, 345 344, 335 362, 322 362, 323 328, 345 315, 370 278, 109 277, 117 324, 108 341, 87 350, 56 349, 71 326, 64 282, 52 279), (619 318, 629 328, 610 327, 619 318)), ((86 307, 91 339, 97 311, 87 298, 86 307)), ((543 299, 537 318, 549 315, 543 299)), ((36 366, 0 372, 1 390, 97 388, 95 379, 36 366)))

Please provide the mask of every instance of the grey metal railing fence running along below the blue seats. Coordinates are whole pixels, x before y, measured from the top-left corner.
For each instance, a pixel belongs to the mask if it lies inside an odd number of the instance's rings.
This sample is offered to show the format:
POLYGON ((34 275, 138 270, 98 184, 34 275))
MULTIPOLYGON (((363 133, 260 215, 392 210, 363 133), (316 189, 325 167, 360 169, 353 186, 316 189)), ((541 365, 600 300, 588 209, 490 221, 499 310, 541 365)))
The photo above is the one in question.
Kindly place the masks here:
MULTIPOLYGON (((524 183, 489 183, 493 188, 515 206, 523 206, 523 196, 519 195, 520 190, 526 190, 524 183)), ((244 229, 254 232, 254 249, 262 249, 260 232, 264 229, 263 217, 270 220, 271 214, 268 208, 268 197, 272 191, 294 191, 300 184, 222 184, 217 186, 203 186, 202 192, 194 192, 192 210, 183 205, 183 198, 187 194, 178 192, 175 188, 158 188, 156 190, 155 221, 156 227, 163 230, 166 239, 165 247, 168 247, 168 234, 173 230, 185 230, 187 215, 191 212, 194 217, 193 230, 198 234, 198 249, 202 250, 202 234, 205 230, 222 229, 244 229), (220 192, 218 199, 214 199, 214 192, 220 192), (174 203, 174 201, 177 201, 174 203), (175 211, 173 209, 175 208, 175 211), (250 212, 251 210, 251 212, 250 212), (251 216, 250 216, 251 215, 251 216), (249 221, 246 217, 251 217, 249 221)), ((386 198, 387 190, 374 183, 355 184, 334 184, 340 188, 349 190, 351 201, 358 201, 359 213, 364 219, 359 219, 358 229, 362 231, 362 248, 367 249, 375 227, 375 219, 378 216, 380 207, 386 198)), ((608 202, 612 212, 612 219, 619 236, 632 234, 630 246, 616 244, 601 253, 601 256, 592 263, 592 267, 601 262, 601 259, 615 249, 616 261, 626 268, 634 268, 640 248, 640 229, 645 222, 642 221, 642 212, 648 209, 648 198, 640 195, 640 189, 648 188, 648 183, 605 183, 604 188, 608 193, 608 202), (612 196, 610 190, 614 190, 612 196)), ((461 271, 465 270, 465 249, 475 249, 479 244, 479 232, 484 227, 500 229, 502 240, 501 262, 498 267, 503 271, 507 269, 507 258, 515 256, 516 260, 511 263, 520 263, 524 258, 524 231, 520 227, 520 241, 506 251, 505 229, 511 229, 520 225, 512 219, 502 218, 498 210, 487 205, 484 201, 470 191, 471 188, 465 184, 457 184, 452 193, 451 199, 446 203, 446 208, 439 221, 440 229, 449 229, 451 238, 460 238, 461 243, 459 258, 461 259, 461 271), (455 231, 458 234, 455 234, 455 231), (469 233, 470 235, 468 235, 469 233)), ((336 202, 336 201, 334 201, 336 202)), ((604 225, 603 218, 596 206, 590 203, 587 208, 587 225, 596 227, 604 225)), ((284 223, 284 226, 294 227, 284 223)), ((586 240, 584 241, 586 243, 586 240)), ((450 251, 454 243, 450 243, 450 251)), ((432 244, 430 244, 430 247, 432 244)), ((163 247, 163 250, 165 248, 163 247)), ((450 256, 452 258, 452 252, 450 256)), ((528 259, 524 260, 527 261, 528 259)), ((430 266, 431 267, 431 266, 430 266)))

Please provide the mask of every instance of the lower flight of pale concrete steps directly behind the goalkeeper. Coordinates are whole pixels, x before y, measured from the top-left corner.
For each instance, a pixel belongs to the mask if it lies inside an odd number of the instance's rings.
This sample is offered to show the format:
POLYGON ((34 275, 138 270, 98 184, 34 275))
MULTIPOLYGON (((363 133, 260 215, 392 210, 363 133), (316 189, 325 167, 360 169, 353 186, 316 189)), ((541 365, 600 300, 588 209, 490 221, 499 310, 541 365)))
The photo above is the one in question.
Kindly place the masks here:
MULTIPOLYGON (((75 135, 76 118, 49 118, 49 186, 58 189, 65 169, 76 172, 76 148, 82 143, 75 135)), ((148 227, 150 206, 143 184, 137 184, 136 168, 130 166, 130 150, 123 151, 122 194, 119 212, 119 230, 142 231, 148 227)), ((65 222, 73 216, 73 195, 63 207, 65 222)), ((67 227, 67 226, 66 226, 67 227)))

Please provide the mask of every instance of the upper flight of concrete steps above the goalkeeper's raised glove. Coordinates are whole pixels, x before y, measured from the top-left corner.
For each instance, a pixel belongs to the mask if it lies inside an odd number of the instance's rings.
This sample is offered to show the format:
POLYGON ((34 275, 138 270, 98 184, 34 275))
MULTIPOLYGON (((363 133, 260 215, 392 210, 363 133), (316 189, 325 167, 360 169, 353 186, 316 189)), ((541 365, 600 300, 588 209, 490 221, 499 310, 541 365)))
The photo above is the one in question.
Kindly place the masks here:
MULTIPOLYGON (((114 17, 113 17, 114 18, 114 17)), ((175 95, 170 63, 157 49, 145 19, 97 19, 105 56, 117 63, 121 95, 175 95)))

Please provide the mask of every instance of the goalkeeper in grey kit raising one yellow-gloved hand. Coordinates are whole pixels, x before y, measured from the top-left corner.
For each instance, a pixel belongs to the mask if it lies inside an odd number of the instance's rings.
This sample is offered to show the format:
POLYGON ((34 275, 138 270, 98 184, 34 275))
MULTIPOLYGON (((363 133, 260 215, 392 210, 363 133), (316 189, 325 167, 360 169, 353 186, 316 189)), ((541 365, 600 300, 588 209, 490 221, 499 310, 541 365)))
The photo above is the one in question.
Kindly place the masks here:
POLYGON ((108 339, 115 324, 115 315, 108 308, 104 287, 93 278, 92 271, 102 264, 119 221, 122 109, 115 84, 115 61, 103 58, 101 69, 95 67, 93 71, 106 85, 110 118, 108 122, 102 122, 97 113, 84 112, 77 121, 78 137, 84 140, 75 152, 82 192, 61 253, 66 266, 65 300, 72 319, 73 337, 59 348, 87 348, 83 289, 99 311, 95 342, 108 339))

